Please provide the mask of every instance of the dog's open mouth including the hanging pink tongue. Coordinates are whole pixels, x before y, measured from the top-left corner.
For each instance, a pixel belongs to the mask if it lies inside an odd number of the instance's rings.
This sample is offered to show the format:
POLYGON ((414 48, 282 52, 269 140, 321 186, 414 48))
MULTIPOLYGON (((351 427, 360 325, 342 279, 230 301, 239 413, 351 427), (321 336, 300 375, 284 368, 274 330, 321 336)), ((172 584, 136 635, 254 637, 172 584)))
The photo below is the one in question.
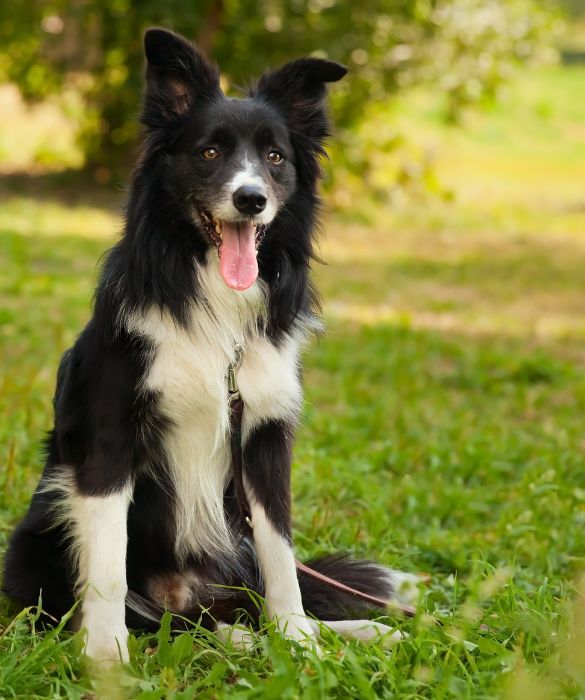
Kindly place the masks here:
POLYGON ((243 292, 258 277, 258 246, 266 226, 251 219, 223 221, 200 209, 205 231, 219 253, 219 269, 228 287, 243 292))

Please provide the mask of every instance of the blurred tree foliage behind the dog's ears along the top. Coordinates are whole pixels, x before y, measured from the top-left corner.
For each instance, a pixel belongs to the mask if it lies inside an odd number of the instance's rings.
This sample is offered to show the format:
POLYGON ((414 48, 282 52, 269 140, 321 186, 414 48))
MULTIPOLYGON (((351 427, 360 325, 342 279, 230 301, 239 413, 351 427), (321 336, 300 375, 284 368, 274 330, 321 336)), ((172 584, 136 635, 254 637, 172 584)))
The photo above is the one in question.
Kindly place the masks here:
MULTIPOLYGON (((9 2, 0 9, 0 80, 16 81, 31 98, 75 85, 88 105, 80 124, 87 158, 115 166, 136 138, 142 32, 149 25, 194 37, 220 63, 232 92, 299 54, 348 64, 334 109, 347 146, 341 152, 349 154, 344 163, 357 178, 370 172, 370 144, 356 130, 366 105, 433 82, 456 118, 534 58, 552 27, 547 6, 536 0, 9 2)), ((396 139, 385 131, 377 147, 390 151, 396 139)))

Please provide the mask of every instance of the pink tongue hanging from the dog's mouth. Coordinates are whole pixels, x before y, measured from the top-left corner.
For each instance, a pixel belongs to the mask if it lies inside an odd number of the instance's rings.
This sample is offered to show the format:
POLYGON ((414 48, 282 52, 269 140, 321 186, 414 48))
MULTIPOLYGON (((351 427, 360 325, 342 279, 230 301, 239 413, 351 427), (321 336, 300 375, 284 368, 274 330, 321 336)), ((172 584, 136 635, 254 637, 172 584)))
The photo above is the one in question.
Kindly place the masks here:
POLYGON ((219 251, 219 269, 228 287, 238 292, 251 287, 258 277, 254 226, 249 221, 222 222, 223 243, 219 251))

